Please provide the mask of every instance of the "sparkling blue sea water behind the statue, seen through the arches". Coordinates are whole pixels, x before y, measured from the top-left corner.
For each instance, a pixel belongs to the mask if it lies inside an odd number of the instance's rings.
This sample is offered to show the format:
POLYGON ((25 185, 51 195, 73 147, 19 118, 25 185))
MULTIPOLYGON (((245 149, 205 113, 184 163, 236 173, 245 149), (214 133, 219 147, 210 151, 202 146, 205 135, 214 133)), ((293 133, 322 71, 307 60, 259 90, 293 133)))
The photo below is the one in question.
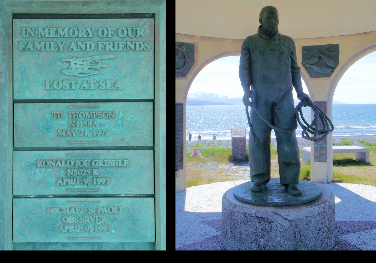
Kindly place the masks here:
MULTIPOLYGON (((303 116, 309 123, 310 110, 309 107, 303 108, 303 116)), ((186 120, 187 141, 188 132, 192 134, 192 140, 197 140, 199 134, 202 140, 213 139, 213 134, 217 140, 230 140, 232 127, 246 127, 247 136, 249 133, 244 105, 186 106, 186 120)), ((332 122, 333 136, 375 135, 376 104, 334 104, 332 122)), ((302 136, 299 124, 296 136, 302 136)), ((271 137, 275 138, 274 131, 271 137)))

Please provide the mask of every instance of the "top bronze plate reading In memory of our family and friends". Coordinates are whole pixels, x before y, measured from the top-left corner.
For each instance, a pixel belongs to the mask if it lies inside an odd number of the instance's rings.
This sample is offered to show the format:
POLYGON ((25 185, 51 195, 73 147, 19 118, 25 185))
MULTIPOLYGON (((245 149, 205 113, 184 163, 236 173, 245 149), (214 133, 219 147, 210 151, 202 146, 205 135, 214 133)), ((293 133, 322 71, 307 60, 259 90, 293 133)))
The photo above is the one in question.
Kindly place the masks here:
POLYGON ((153 98, 154 19, 14 19, 14 99, 153 98))

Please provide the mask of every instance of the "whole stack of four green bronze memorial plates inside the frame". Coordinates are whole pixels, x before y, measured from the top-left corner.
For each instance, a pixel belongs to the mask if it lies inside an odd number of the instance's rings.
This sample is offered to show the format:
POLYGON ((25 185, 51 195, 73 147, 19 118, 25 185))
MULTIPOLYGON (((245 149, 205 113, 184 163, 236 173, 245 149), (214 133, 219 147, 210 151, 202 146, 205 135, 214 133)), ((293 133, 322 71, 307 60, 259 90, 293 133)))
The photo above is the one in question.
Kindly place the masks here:
POLYGON ((155 242, 153 16, 39 17, 13 19, 12 241, 155 242))

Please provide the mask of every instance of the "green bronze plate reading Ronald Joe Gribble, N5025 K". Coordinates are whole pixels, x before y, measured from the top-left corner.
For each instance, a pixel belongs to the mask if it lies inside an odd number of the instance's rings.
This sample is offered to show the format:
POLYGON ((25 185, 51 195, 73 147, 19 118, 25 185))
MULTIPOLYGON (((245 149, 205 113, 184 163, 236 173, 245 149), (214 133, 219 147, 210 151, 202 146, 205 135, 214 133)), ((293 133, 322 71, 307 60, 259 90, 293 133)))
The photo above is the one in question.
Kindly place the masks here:
POLYGON ((152 150, 15 151, 13 195, 154 194, 152 150))

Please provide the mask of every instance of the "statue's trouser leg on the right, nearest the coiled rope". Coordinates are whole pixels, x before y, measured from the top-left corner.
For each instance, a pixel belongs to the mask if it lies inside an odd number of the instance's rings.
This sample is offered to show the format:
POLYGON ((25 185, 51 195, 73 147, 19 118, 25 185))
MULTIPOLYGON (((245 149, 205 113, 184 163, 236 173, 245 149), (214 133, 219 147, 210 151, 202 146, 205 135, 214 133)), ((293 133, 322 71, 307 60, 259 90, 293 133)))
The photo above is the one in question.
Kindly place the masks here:
MULTIPOLYGON (((288 96, 290 97, 290 96, 288 96)), ((286 98, 274 107, 274 125, 281 130, 291 130, 296 127, 293 98, 286 98)), ((299 183, 300 156, 295 131, 281 133, 275 131, 277 139, 277 153, 279 178, 282 185, 299 183)))

